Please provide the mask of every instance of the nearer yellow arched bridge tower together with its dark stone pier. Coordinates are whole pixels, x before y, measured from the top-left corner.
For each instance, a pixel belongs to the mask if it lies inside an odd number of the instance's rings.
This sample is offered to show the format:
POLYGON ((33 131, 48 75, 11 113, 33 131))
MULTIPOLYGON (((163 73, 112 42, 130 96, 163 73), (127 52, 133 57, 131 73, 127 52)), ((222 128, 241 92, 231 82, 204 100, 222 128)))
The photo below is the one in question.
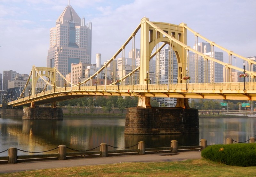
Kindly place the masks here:
MULTIPOLYGON (((176 54, 178 63, 178 83, 182 83, 188 67, 188 49, 186 24, 173 25, 162 22, 150 22, 148 18, 141 20, 140 36, 140 84, 147 85, 149 60, 159 43, 169 44, 176 54), (183 43, 184 45, 180 45, 183 43)), ((164 46, 162 45, 162 46, 164 46)), ((157 59, 157 57, 156 57, 157 59)), ((160 60, 158 58, 158 60, 160 60)), ((157 61, 156 61, 157 65, 157 61)), ((159 66, 156 66, 156 69, 159 66)), ((158 71, 156 71, 156 75, 158 71)), ((156 79, 156 85, 158 81, 156 79)), ((169 87, 168 87, 169 90, 169 87)), ((176 108, 152 107, 150 97, 139 96, 138 107, 127 108, 125 118, 125 134, 184 134, 199 133, 198 110, 189 109, 188 98, 177 98, 176 108)))

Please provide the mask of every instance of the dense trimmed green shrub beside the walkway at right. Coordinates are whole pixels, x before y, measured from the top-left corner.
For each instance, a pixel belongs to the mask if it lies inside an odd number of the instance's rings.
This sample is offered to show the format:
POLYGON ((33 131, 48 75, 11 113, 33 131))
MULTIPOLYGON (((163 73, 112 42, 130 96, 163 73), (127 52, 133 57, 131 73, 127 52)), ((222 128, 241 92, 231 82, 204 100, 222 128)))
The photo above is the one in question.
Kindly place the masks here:
POLYGON ((256 143, 211 145, 201 156, 231 166, 256 166, 256 143))

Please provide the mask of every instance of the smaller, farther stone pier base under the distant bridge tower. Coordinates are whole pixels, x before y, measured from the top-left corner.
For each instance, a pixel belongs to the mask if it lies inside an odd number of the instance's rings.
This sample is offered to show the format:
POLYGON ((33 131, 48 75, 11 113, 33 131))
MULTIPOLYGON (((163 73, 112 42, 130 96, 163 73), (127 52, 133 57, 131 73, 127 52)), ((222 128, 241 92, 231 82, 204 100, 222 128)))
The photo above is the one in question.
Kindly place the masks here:
POLYGON ((63 119, 62 108, 25 107, 22 119, 63 119))

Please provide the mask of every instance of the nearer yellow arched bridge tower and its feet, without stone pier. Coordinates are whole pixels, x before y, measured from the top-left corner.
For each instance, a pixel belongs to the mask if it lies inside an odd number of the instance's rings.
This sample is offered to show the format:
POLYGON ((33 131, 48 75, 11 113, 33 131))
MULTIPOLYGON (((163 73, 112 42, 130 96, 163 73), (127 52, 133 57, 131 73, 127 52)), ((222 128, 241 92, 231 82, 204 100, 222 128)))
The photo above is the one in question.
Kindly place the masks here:
MULTIPOLYGON (((149 71, 149 60, 151 53, 156 48, 156 55, 160 52, 156 46, 159 43, 169 44, 176 54, 178 63, 178 83, 182 83, 182 78, 186 74, 188 67, 187 49, 177 44, 175 40, 187 45, 186 24, 173 25, 163 22, 150 22, 148 18, 141 19, 140 37, 140 83, 147 84, 147 71, 149 71), (174 42, 173 42, 174 41, 174 42)), ((156 71, 156 74, 157 71, 156 71)), ((138 106, 150 108, 150 97, 140 96, 138 106)), ((177 98, 176 107, 189 108, 187 98, 177 98)))

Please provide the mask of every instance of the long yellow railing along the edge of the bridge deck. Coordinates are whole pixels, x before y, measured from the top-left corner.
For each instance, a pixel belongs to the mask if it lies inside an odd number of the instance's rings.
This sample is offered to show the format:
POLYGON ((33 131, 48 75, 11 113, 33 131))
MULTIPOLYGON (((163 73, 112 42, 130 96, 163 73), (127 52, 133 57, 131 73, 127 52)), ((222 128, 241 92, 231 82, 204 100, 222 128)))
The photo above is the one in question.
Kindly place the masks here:
MULTIPOLYGON (((256 90, 256 82, 246 82, 245 83, 246 91, 256 90)), ((11 104, 24 102, 32 100, 36 97, 51 95, 52 93, 58 96, 64 94, 65 92, 79 92, 79 91, 88 91, 88 92, 161 92, 161 93, 214 93, 215 91, 229 92, 231 93, 244 93, 244 82, 224 82, 224 83, 181 83, 181 84, 143 84, 143 85, 96 85, 93 86, 73 86, 73 87, 63 87, 63 88, 53 88, 51 90, 43 91, 41 93, 36 93, 35 95, 27 96, 9 102, 11 104), (188 89, 186 90, 186 87, 188 89), (118 89, 119 88, 119 89, 118 89), (148 89, 147 89, 148 88, 148 89), (230 92, 231 91, 231 92, 230 92)))

